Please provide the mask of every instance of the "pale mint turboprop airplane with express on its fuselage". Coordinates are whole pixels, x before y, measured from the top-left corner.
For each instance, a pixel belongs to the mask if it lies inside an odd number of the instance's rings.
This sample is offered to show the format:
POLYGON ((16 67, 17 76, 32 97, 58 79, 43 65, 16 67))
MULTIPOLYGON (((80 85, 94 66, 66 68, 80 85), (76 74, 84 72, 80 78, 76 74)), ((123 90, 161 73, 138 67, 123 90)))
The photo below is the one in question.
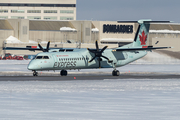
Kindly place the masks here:
MULTIPOLYGON (((119 76, 117 67, 127 65, 137 59, 144 57, 148 51, 154 49, 166 49, 170 47, 146 46, 147 36, 151 20, 139 20, 134 42, 128 45, 107 49, 105 46, 99 49, 96 41, 96 49, 51 49, 50 42, 44 49, 40 44, 39 48, 4 48, 6 50, 42 50, 29 63, 28 69, 33 71, 33 76, 38 76, 37 71, 61 70, 60 75, 66 76, 67 70, 71 69, 96 69, 113 68, 113 76, 119 76)), ((163 21, 161 21, 163 22, 163 21)), ((167 21, 164 21, 167 22, 167 21)))

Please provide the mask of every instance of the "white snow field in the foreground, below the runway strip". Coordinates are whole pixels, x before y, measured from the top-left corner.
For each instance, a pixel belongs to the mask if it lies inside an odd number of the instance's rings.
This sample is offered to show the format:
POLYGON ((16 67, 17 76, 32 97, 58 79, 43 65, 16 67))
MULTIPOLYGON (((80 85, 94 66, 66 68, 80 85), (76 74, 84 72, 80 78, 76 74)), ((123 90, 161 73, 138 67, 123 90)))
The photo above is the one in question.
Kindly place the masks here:
POLYGON ((180 81, 0 82, 1 120, 179 120, 180 81))

